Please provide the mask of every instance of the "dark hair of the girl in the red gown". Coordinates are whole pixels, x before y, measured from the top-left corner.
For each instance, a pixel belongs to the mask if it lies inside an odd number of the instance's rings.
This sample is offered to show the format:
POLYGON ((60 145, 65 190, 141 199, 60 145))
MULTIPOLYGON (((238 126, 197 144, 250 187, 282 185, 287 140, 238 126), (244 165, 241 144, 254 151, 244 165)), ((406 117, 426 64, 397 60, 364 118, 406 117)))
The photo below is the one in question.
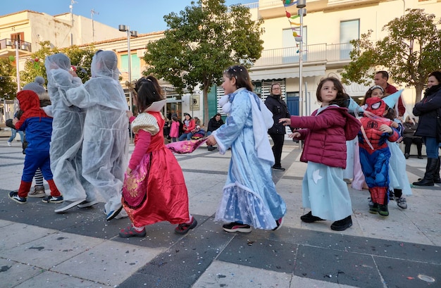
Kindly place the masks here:
POLYGON ((139 112, 144 112, 153 102, 165 99, 161 86, 154 76, 142 77, 136 82, 135 96, 139 112))

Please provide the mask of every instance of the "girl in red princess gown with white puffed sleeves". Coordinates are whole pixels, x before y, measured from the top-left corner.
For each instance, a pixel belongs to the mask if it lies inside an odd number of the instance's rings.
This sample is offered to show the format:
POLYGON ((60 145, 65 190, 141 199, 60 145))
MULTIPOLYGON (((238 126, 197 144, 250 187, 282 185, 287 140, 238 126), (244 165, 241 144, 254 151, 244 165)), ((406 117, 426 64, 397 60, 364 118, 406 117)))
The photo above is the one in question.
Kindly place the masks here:
POLYGON ((166 100, 158 80, 153 76, 138 80, 134 99, 141 113, 135 118, 128 112, 135 132, 135 150, 126 170, 122 199, 132 226, 120 230, 119 236, 145 237, 144 226, 161 221, 178 224, 175 233, 186 234, 197 221, 189 213, 182 169, 164 145, 161 131, 165 118, 161 109, 166 100), (144 180, 137 175, 143 175, 144 180))

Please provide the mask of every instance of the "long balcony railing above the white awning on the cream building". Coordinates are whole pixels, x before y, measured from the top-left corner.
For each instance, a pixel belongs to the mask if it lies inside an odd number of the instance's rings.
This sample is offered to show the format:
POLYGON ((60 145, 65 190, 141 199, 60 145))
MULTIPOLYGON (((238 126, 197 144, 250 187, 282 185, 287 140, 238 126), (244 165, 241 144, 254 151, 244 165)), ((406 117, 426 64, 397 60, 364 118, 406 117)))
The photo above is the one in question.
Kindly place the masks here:
MULTIPOLYGON (((349 52, 352 51, 352 44, 313 44, 306 46, 302 53, 304 65, 308 63, 333 63, 346 65, 350 61, 349 52)), ((254 63, 254 68, 263 66, 295 65, 299 63, 299 48, 297 46, 267 49, 262 51, 261 58, 254 63)))

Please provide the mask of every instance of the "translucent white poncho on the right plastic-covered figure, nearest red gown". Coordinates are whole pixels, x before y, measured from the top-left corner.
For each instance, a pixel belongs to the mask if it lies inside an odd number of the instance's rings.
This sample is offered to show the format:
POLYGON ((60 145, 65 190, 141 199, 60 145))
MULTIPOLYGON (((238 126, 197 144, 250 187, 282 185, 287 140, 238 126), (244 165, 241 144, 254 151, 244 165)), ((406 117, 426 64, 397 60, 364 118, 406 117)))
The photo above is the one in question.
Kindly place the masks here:
POLYGON ((128 104, 118 82, 118 58, 98 51, 92 58, 92 78, 70 89, 70 104, 87 110, 82 144, 82 175, 106 199, 106 211, 121 206, 121 189, 128 163, 128 104))

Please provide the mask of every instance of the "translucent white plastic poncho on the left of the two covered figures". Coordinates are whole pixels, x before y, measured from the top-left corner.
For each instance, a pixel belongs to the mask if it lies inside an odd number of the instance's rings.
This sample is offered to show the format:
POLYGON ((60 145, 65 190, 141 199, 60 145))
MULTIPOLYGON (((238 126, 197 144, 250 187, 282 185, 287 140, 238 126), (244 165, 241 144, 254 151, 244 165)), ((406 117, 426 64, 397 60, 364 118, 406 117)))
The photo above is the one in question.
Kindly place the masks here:
POLYGON ((70 59, 65 54, 47 56, 44 65, 54 117, 49 151, 54 182, 65 201, 93 201, 94 187, 82 177, 82 130, 86 113, 66 101, 68 89, 79 87, 81 79, 69 73, 70 59))

